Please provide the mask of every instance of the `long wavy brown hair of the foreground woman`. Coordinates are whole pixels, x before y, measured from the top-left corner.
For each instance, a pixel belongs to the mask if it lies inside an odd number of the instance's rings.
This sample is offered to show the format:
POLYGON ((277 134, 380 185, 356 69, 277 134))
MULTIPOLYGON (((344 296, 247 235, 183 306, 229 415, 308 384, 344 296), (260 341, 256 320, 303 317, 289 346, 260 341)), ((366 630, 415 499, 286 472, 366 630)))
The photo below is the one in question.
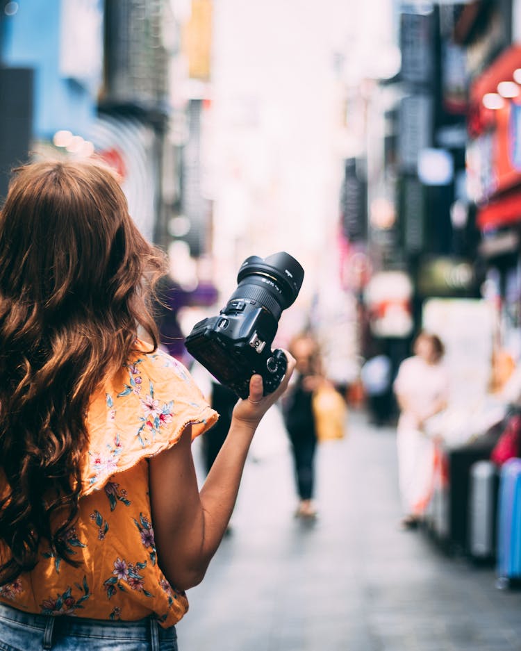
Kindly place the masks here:
POLYGON ((42 539, 67 557, 92 395, 158 332, 163 255, 99 163, 15 170, 0 212, 0 585, 31 570, 42 539))

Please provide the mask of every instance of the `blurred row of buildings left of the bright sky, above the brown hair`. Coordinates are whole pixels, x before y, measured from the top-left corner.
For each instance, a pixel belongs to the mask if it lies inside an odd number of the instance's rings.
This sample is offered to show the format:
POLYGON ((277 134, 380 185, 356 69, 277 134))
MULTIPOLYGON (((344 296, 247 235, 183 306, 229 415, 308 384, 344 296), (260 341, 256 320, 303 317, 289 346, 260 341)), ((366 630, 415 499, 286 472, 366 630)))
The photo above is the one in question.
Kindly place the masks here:
POLYGON ((147 238, 165 249, 180 243, 188 258, 206 254, 201 88, 211 8, 210 0, 2 0, 0 196, 27 160, 98 156, 121 177, 147 238))

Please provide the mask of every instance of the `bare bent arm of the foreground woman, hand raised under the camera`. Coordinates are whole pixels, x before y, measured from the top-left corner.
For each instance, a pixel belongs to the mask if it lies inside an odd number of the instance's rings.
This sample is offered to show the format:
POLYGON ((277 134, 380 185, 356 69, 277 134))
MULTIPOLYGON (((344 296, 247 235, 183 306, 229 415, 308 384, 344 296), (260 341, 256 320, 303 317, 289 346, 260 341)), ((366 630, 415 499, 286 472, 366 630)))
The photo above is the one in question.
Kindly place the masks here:
POLYGON ((150 498, 158 561, 168 581, 181 590, 201 582, 231 517, 242 470, 255 430, 288 385, 263 397, 262 378, 250 381, 249 398, 233 410, 229 434, 199 492, 191 450, 191 428, 177 445, 150 460, 150 498), (256 403, 256 404, 254 404, 256 403))

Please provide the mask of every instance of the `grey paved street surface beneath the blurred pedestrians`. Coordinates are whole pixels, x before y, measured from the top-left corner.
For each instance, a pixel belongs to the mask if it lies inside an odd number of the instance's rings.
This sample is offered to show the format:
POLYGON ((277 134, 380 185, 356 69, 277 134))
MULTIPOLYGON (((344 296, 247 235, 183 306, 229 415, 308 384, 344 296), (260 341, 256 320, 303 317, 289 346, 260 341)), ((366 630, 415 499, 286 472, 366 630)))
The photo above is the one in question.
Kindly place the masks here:
POLYGON ((231 534, 189 593, 181 651, 521 650, 521 593, 397 526, 392 429, 352 413, 345 440, 320 447, 311 524, 292 515, 276 411, 257 436, 231 534))

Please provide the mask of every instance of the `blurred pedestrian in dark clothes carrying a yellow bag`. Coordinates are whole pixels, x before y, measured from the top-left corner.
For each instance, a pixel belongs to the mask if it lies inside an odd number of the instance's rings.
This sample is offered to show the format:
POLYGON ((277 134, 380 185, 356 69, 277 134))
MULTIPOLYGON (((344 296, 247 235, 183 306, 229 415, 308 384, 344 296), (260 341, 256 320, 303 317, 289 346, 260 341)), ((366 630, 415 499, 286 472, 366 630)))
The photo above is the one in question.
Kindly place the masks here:
POLYGON ((295 358, 295 374, 283 399, 283 416, 291 442, 299 506, 295 513, 315 518, 315 450, 317 429, 313 412, 313 394, 324 384, 320 349, 309 333, 295 336, 288 346, 295 358))

